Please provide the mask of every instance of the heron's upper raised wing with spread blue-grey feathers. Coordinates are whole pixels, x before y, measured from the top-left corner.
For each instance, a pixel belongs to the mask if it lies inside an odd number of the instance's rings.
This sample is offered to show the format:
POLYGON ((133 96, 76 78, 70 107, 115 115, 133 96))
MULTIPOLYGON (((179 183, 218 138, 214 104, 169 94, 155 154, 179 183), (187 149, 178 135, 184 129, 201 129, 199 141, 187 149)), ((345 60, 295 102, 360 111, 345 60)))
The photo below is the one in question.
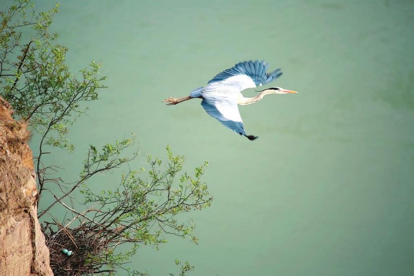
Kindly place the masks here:
POLYGON ((278 78, 282 72, 279 69, 276 69, 273 72, 267 73, 266 70, 269 67, 269 64, 265 61, 243 61, 239 62, 234 67, 222 71, 220 74, 215 76, 208 84, 216 82, 225 82, 230 78, 234 81, 240 81, 241 90, 246 88, 256 87, 260 85, 265 85, 272 80, 278 78), (247 83, 246 79, 243 76, 247 76, 252 81, 252 85, 247 83))

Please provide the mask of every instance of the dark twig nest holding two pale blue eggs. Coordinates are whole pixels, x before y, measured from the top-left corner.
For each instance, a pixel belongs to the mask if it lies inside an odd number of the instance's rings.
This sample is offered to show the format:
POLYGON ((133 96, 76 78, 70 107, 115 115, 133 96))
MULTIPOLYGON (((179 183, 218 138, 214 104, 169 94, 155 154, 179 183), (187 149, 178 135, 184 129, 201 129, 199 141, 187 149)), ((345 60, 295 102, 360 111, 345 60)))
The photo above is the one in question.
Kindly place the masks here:
POLYGON ((97 232, 85 225, 66 228, 56 225, 57 231, 48 227, 45 234, 46 245, 50 251, 50 266, 55 276, 92 275, 99 272, 105 263, 107 243, 99 238, 97 232), (68 256, 62 250, 73 251, 68 256))

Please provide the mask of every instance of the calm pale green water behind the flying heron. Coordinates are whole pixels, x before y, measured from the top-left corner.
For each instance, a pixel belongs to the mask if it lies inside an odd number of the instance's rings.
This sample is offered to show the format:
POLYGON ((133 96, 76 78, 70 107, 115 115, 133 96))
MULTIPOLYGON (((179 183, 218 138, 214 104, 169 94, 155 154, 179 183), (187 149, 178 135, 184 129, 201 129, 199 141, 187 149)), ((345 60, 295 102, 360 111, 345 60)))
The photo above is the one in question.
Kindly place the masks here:
POLYGON ((209 161, 213 205, 189 215, 200 243, 140 250, 131 267, 153 276, 174 258, 189 276, 414 275, 413 14, 412 0, 62 1, 52 30, 70 67, 102 61, 109 89, 71 129, 77 151, 52 161, 73 178, 88 144, 131 132, 187 169, 209 161), (161 103, 249 59, 300 92, 240 107, 256 141, 198 99, 161 103))

